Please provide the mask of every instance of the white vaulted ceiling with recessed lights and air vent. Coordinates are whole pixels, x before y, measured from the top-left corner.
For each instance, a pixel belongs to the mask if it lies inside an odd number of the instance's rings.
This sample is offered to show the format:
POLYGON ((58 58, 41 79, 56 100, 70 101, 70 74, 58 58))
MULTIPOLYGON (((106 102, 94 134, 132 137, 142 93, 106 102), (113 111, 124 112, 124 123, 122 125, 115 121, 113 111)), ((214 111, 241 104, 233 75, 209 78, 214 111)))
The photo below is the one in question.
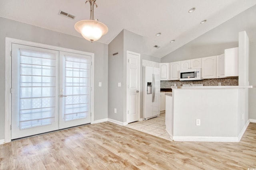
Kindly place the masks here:
MULTIPOLYGON (((94 18, 108 26, 98 42, 109 44, 127 29, 143 37, 142 53, 161 58, 254 6, 256 0, 97 0, 97 4, 94 18), (188 13, 193 7, 196 10, 188 13), (207 22, 200 24, 202 20, 207 22), (156 37, 158 32, 162 35, 156 37), (172 39, 176 41, 170 43, 172 39)), ((85 0, 0 0, 0 17, 82 37, 74 24, 90 18, 90 5, 85 0), (60 16, 59 10, 76 18, 60 16)))

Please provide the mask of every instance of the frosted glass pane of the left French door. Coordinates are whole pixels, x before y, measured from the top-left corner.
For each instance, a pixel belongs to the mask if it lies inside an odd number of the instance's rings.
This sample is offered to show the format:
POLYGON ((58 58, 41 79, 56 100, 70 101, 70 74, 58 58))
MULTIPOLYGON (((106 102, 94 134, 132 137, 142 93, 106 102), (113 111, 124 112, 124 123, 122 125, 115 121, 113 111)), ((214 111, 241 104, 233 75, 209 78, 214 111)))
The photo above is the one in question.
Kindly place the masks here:
POLYGON ((55 121, 56 54, 20 49, 20 129, 55 121))

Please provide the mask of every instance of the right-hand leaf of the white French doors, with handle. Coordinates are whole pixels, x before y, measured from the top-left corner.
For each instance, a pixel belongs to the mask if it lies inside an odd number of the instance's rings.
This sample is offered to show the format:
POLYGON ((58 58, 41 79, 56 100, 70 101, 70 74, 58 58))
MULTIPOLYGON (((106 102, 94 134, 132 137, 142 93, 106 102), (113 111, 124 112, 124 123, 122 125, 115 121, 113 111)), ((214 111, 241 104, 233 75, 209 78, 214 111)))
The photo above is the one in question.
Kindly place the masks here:
POLYGON ((60 129, 90 123, 91 57, 60 51, 60 129))

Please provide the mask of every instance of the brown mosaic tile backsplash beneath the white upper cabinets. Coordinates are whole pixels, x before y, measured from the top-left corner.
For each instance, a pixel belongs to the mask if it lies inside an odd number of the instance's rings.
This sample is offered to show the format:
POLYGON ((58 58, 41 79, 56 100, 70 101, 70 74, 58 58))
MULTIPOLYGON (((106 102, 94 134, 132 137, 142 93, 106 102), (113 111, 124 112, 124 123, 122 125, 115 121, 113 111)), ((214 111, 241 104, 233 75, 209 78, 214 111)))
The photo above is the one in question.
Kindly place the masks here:
POLYGON ((182 84, 204 84, 204 86, 218 86, 218 83, 221 83, 221 86, 238 86, 238 77, 235 78, 214 78, 214 79, 204 79, 196 81, 179 81, 179 80, 169 80, 161 81, 161 88, 171 88, 171 86, 182 86, 182 84))

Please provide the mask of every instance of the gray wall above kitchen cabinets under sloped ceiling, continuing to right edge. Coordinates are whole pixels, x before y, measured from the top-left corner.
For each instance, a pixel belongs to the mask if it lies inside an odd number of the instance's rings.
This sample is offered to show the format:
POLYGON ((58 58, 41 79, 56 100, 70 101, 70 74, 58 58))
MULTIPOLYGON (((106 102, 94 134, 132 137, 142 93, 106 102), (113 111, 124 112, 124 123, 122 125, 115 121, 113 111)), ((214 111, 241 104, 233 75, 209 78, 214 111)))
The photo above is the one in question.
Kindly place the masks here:
MULTIPOLYGON (((161 63, 220 55, 224 53, 224 49, 238 47, 238 33, 240 31, 246 31, 250 39, 249 80, 250 85, 256 85, 255 16, 256 6, 253 6, 172 53, 162 57, 161 63)), ((255 101, 256 89, 249 89, 249 119, 256 119, 255 101)))

